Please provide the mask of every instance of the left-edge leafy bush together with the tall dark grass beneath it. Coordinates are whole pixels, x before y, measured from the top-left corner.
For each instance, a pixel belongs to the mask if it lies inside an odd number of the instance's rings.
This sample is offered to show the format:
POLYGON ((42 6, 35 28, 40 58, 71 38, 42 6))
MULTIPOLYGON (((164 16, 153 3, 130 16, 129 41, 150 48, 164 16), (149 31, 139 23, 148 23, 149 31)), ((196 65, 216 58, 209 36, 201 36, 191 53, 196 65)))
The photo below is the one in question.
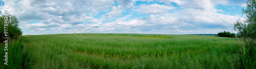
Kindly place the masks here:
MULTIPOLYGON (((1 13, 2 12, 0 11, 0 14, 1 13)), ((28 65, 30 64, 29 62, 31 59, 28 58, 27 50, 24 49, 24 45, 20 43, 22 42, 20 40, 20 37, 22 37, 22 29, 20 29, 18 26, 18 20, 15 16, 0 16, 0 68, 29 68, 28 65), (5 21, 8 23, 5 23, 5 21), (7 36, 5 36, 5 31, 7 31, 7 36), (9 38, 7 51, 5 51, 6 49, 4 50, 4 37, 9 38), (8 65, 5 65, 5 61, 3 60, 5 59, 5 52, 8 52, 8 65)))

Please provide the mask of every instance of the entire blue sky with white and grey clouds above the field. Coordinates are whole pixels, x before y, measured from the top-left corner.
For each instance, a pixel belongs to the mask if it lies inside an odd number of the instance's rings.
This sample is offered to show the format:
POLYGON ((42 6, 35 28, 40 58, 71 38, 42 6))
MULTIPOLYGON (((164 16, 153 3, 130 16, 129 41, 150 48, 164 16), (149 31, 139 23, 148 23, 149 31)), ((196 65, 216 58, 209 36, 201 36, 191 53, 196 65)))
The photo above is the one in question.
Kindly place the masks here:
POLYGON ((23 35, 217 34, 243 21, 246 0, 0 0, 23 35))

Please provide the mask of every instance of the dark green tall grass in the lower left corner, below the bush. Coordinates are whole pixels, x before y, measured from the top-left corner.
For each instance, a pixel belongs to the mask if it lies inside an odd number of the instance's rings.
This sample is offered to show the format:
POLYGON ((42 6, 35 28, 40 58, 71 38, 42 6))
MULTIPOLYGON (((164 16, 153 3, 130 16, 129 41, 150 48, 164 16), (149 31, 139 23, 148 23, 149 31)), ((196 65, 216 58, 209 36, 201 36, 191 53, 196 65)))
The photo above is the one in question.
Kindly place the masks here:
POLYGON ((0 46, 0 68, 30 68, 30 58, 28 55, 28 50, 25 49, 25 46, 21 43, 22 39, 11 40, 8 42, 8 51, 4 51, 5 44, 1 43, 0 46), (4 64, 5 52, 8 52, 8 65, 4 64))

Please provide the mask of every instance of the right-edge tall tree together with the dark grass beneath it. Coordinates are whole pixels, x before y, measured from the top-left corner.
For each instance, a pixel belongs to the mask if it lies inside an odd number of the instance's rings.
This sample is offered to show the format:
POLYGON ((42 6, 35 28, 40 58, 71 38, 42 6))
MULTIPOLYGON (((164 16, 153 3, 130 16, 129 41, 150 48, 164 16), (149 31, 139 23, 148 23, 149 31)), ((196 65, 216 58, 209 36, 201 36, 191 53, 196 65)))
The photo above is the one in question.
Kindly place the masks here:
POLYGON ((237 20, 234 30, 238 31, 242 68, 256 68, 256 1, 248 0, 247 8, 242 9, 244 22, 237 20))

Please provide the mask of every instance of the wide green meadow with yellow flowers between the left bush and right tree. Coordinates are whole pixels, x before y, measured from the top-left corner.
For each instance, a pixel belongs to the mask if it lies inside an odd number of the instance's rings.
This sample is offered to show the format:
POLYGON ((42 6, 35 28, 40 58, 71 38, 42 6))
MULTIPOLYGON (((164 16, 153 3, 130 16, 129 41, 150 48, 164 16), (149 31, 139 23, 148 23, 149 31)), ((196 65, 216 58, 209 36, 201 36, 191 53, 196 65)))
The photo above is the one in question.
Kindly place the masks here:
POLYGON ((241 67, 239 43, 234 38, 84 33, 23 36, 18 42, 25 61, 20 68, 241 67))

